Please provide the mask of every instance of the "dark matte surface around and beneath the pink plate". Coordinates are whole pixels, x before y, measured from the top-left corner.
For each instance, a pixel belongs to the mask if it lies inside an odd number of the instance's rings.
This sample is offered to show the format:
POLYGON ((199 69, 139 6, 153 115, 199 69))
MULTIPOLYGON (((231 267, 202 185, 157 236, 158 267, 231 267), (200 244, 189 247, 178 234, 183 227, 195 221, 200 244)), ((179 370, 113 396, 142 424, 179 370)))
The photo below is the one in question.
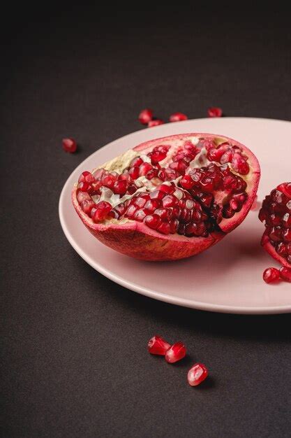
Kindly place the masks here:
POLYGON ((143 107, 291 119, 287 11, 149 9, 2 15, 3 437, 290 436, 289 315, 142 297, 91 269, 59 225, 70 172, 139 129, 143 107), (63 136, 80 151, 64 153, 63 136), (183 340, 190 357, 149 356, 156 333, 183 340), (196 360, 211 377, 191 388, 196 360))

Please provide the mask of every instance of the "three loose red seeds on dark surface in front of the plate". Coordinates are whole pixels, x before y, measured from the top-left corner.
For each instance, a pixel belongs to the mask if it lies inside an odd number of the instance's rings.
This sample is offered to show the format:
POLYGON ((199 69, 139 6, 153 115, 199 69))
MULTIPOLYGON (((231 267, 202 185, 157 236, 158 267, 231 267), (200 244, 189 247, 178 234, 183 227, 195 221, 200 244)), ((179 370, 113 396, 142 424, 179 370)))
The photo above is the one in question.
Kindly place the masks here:
MULTIPOLYGON (((183 342, 176 342, 172 346, 161 336, 154 336, 147 344, 149 353, 165 356, 168 363, 178 362, 186 356, 186 348, 183 342)), ((188 371, 188 383, 197 386, 208 376, 207 367, 202 363, 195 363, 188 371)))

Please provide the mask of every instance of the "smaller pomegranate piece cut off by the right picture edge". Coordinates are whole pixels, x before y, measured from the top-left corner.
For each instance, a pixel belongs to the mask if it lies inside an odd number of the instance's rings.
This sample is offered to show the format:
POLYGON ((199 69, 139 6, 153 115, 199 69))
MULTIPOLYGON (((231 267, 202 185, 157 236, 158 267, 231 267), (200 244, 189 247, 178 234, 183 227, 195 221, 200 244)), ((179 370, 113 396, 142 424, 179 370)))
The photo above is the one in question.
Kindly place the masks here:
POLYGON ((262 202, 259 218, 266 229, 262 246, 284 267, 291 268, 291 183, 283 183, 262 202))

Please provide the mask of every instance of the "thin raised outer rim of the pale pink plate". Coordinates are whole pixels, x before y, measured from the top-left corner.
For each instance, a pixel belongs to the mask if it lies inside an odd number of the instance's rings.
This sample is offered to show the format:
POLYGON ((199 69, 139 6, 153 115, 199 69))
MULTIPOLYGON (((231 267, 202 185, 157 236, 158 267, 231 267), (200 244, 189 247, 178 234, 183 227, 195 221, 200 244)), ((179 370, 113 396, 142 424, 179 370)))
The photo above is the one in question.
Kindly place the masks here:
MULTIPOLYGON (((272 119, 272 118, 253 118, 253 117, 225 117, 223 120, 231 119, 231 120, 264 120, 268 122, 283 122, 283 123, 290 123, 289 120, 280 120, 280 119, 272 119)), ((188 122, 193 121, 199 121, 199 120, 209 120, 209 118, 198 118, 198 119, 190 119, 190 120, 184 120, 182 122, 178 122, 179 125, 186 125, 188 122)), ((177 122, 176 122, 177 123, 177 122)), ((164 125, 161 125, 164 126, 164 125)), ((159 127, 157 127, 159 128, 159 127)), ((280 314, 280 313, 291 313, 291 306, 230 306, 225 304, 211 304, 207 302, 200 302, 185 298, 177 298, 173 297, 172 295, 167 294, 161 294, 161 292, 153 292, 152 290, 148 288, 144 288, 140 285, 136 285, 135 283, 131 283, 129 281, 124 280, 124 278, 121 278, 117 274, 112 274, 112 272, 106 268, 104 268, 102 265, 100 265, 98 262, 92 262, 91 257, 89 257, 82 248, 75 242, 73 239, 72 234, 68 231, 68 228, 66 227, 66 221, 64 218, 64 213, 62 211, 62 206, 65 199, 65 192, 68 188, 68 181, 70 180, 70 177, 81 167, 84 166, 84 164, 90 160, 91 156, 94 155, 97 151, 102 150, 103 148, 107 148, 109 146, 112 146, 112 144, 116 141, 121 141, 126 139, 128 136, 132 137, 135 134, 140 134, 140 132, 147 131, 148 128, 145 129, 139 129, 135 132, 131 132, 130 134, 126 134, 124 136, 119 137, 118 139, 114 139, 113 141, 110 141, 110 143, 105 144, 98 150, 95 150, 94 153, 91 153, 88 157, 86 157, 75 169, 70 173, 68 178, 66 179, 66 182, 64 183, 64 186, 61 190, 61 194, 59 197, 59 220, 61 222, 61 228, 63 229, 63 232, 66 236, 66 239, 68 239, 68 242, 70 245, 74 248, 76 253, 82 257, 82 259, 87 262, 93 269, 100 272, 103 276, 109 278, 114 283, 117 283, 124 288, 127 288, 129 290, 133 290, 134 292, 139 293, 140 295, 144 295, 146 297, 150 297, 152 299, 156 299, 158 301, 166 302, 169 304, 174 304, 177 306, 184 306, 188 309, 196 309, 200 311, 212 311, 216 313, 232 313, 232 314, 248 314, 248 315, 271 315, 271 314, 280 314)))

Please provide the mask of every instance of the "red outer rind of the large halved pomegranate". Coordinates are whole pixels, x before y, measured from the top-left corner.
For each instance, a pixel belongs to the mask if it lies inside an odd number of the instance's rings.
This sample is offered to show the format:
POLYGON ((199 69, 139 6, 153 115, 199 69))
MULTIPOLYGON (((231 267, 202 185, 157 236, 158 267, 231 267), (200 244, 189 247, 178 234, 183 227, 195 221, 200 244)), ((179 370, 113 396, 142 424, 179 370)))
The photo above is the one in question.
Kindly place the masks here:
MULTIPOLYGON (((215 243, 218 243, 218 241, 221 241, 228 232, 237 227, 251 209, 253 199, 258 190, 258 183, 260 181, 260 165, 255 155, 253 155, 246 146, 221 135, 193 133, 154 139, 141 143, 133 148, 133 150, 148 153, 155 146, 161 144, 174 144, 177 141, 187 141, 195 136, 199 136, 205 140, 209 139, 209 141, 214 138, 230 141, 243 148, 244 154, 248 155, 248 164, 251 169, 251 174, 247 181, 248 199, 241 211, 237 213, 238 216, 235 215, 229 219, 223 218, 220 223, 220 229, 211 232, 207 237, 187 237, 179 234, 165 235, 156 232, 154 229, 150 229, 144 224, 144 222, 136 222, 134 220, 128 220, 126 223, 94 223, 93 220, 82 211, 80 204, 77 202, 77 185, 75 185, 72 192, 73 206, 84 225, 89 229, 89 232, 106 246, 130 257, 147 261, 170 261, 191 257, 201 253, 215 243)), ((98 168, 103 168, 106 164, 103 164, 98 168)))

